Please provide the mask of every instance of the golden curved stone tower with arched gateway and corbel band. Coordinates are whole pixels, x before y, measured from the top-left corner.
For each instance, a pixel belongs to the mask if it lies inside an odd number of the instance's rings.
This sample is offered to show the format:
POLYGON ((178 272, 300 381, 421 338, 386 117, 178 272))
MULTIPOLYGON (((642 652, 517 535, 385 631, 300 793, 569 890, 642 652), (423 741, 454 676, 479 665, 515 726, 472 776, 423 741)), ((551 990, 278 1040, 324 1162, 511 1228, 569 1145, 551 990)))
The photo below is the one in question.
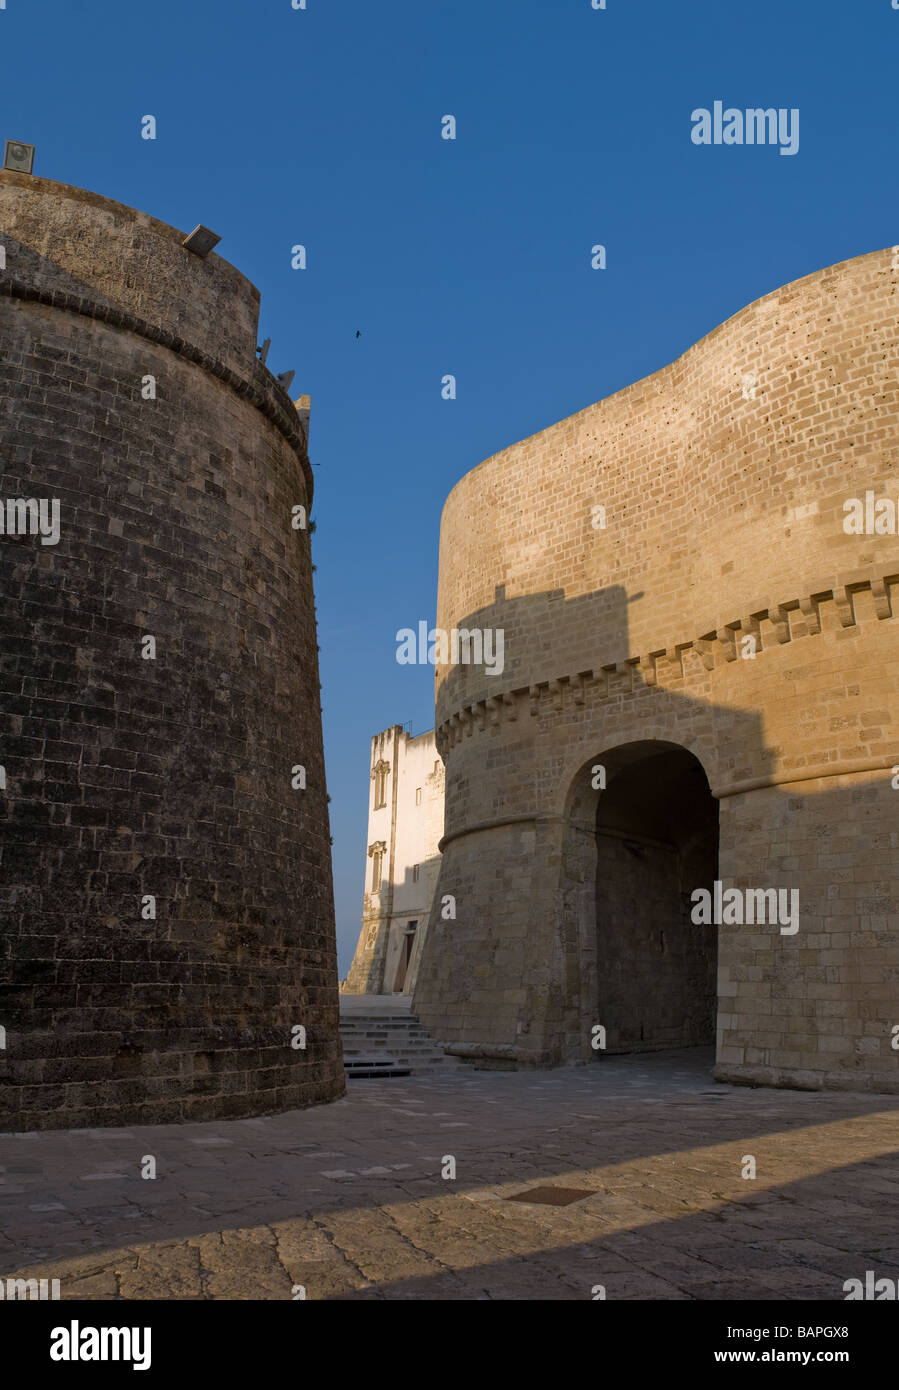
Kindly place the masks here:
POLYGON ((450 493, 438 627, 504 664, 436 671, 435 1037, 899 1090, 898 327, 889 250, 830 267, 450 493))

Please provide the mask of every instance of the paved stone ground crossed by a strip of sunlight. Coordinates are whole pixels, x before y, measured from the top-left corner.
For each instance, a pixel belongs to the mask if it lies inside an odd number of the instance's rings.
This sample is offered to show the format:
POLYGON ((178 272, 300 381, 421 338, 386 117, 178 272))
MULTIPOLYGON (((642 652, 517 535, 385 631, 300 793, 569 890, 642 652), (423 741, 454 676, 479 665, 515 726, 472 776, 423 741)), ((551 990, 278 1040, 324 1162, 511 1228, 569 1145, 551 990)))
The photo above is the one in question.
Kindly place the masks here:
POLYGON ((899 1276, 899 1101, 716 1086, 710 1063, 464 1069, 265 1119, 3 1134, 0 1273, 92 1300, 842 1300, 866 1269, 899 1276), (539 1186, 591 1195, 506 1200, 539 1186))

